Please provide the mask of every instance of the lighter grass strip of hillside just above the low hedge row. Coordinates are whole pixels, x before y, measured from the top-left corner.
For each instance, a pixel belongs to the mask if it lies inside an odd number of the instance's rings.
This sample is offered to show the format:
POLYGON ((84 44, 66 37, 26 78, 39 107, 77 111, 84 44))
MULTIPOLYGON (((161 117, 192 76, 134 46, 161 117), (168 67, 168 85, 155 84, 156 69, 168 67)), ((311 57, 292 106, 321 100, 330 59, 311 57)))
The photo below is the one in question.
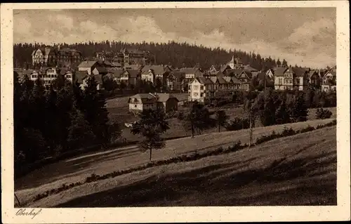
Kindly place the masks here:
MULTIPOLYGON (((282 131, 284 126, 292 127, 293 129, 301 129, 308 125, 317 126, 319 124, 326 124, 331 120, 332 119, 315 120, 257 128, 254 131, 254 138, 258 138, 263 134, 271 133, 272 131, 282 131)), ((236 140, 241 140, 242 143, 247 143, 249 140, 248 134, 248 130, 227 131, 195 136, 194 139, 180 138, 177 140, 168 140, 166 147, 163 150, 154 152, 153 159, 167 159, 170 157, 176 157, 179 154, 194 152, 196 150, 206 152, 208 150, 216 149, 219 146, 227 147, 228 145, 232 145, 236 140)), ((319 133, 316 132, 314 138, 317 139, 319 136, 319 133)), ((335 140, 335 133, 333 138, 335 140)), ((308 142, 310 142, 310 140, 308 140, 307 143, 308 142)), ((289 141, 289 143, 297 144, 293 149, 296 150, 297 148, 303 147, 305 141, 289 141)), ((277 147, 272 147, 272 150, 274 149, 277 149, 277 147)), ((227 156, 228 155, 226 155, 226 157, 227 156)), ((147 160, 148 153, 140 152, 136 146, 124 147, 122 149, 95 154, 86 154, 85 156, 50 164, 43 169, 29 173, 27 176, 15 181, 15 190, 22 204, 27 204, 32 201, 35 195, 59 187, 64 183, 74 183, 83 180, 87 176, 91 176, 92 173, 102 175, 112 171, 140 166, 141 164, 146 164, 147 160)))

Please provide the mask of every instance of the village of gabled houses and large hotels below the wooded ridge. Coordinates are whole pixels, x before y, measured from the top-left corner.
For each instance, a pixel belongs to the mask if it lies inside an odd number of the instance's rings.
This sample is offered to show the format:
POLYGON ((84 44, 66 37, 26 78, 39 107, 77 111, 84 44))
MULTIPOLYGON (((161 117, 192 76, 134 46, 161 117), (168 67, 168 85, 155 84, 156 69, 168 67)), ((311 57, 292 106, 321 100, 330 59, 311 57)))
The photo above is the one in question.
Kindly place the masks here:
MULTIPOLYGON (((266 70, 256 70, 250 65, 244 65, 233 55, 223 65, 213 65, 208 69, 201 68, 199 65, 176 68, 172 65, 152 65, 147 54, 150 53, 122 48, 117 53, 97 52, 95 57, 83 60, 83 56, 77 50, 48 46, 32 52, 32 67, 35 69, 15 68, 14 72, 18 74, 20 80, 25 75, 32 81, 41 79, 46 89, 59 75, 74 84, 79 84, 81 88, 86 86, 86 80, 89 77, 94 77, 98 90, 104 89, 111 81, 119 88, 133 90, 138 86, 138 82, 142 81, 143 84, 159 86, 160 92, 157 95, 184 93, 183 96, 186 94, 187 98, 182 97, 181 101, 201 103, 226 98, 235 91, 249 91, 252 85, 258 87, 256 91, 262 91, 265 87, 274 88, 276 91, 294 89, 304 91, 307 86, 324 92, 336 91, 336 66, 311 70, 308 67, 278 65, 266 70), (105 80, 110 82, 104 85, 105 80)), ((135 91, 127 91, 129 94, 131 92, 135 93, 135 91)), ((128 99, 131 112, 153 108, 156 106, 156 101, 166 104, 160 99, 168 99, 168 96, 161 96, 156 100, 156 95, 141 93, 138 89, 136 93, 137 95, 128 99)), ((166 111, 176 109, 174 105, 165 105, 165 107, 166 111)))

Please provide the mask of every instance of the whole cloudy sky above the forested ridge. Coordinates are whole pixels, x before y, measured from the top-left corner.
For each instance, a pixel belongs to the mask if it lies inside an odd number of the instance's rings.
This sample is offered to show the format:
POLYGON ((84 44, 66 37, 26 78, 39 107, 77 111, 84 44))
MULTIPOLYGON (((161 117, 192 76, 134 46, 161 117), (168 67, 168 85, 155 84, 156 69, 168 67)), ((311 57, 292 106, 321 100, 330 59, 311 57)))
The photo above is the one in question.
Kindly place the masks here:
POLYGON ((335 8, 120 8, 13 11, 15 43, 188 42, 336 65, 335 8))

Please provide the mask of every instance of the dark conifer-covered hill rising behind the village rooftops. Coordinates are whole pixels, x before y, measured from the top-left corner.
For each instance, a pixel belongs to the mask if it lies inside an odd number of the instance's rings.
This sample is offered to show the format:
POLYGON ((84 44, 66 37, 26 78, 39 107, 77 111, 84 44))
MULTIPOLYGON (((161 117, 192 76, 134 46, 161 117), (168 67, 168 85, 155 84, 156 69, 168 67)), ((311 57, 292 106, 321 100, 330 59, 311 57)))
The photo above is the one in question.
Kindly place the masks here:
MULTIPOLYGON (((32 51, 44 44, 15 44, 13 45, 13 63, 15 67, 27 67, 32 64, 32 51)), ((62 44, 61 47, 74 48, 81 51, 84 58, 92 57, 98 51, 120 51, 121 48, 135 48, 150 52, 150 61, 160 65, 171 64, 174 67, 194 67, 199 64, 204 69, 211 65, 223 65, 230 61, 232 56, 239 58, 244 64, 249 64, 257 70, 287 65, 286 60, 263 58, 260 54, 245 51, 227 51, 223 48, 207 48, 187 43, 169 41, 167 44, 158 43, 124 43, 121 41, 88 42, 82 44, 62 44)))

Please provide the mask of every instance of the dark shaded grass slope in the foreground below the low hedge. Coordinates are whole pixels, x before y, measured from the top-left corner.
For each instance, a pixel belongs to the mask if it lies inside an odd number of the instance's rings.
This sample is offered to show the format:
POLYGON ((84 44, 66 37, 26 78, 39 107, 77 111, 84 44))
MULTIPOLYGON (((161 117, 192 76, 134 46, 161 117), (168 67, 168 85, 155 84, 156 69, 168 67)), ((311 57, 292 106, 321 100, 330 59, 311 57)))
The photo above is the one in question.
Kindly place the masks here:
POLYGON ((32 207, 336 204, 336 126, 74 187, 32 207))

